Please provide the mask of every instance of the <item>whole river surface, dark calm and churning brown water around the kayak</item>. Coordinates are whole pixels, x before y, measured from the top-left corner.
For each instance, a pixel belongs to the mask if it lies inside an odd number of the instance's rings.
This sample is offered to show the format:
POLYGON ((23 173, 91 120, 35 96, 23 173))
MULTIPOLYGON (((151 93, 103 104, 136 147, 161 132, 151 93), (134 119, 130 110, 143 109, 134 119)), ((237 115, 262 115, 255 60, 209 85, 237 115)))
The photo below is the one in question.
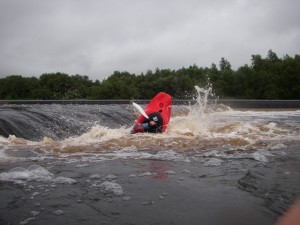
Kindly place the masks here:
POLYGON ((274 224, 300 196, 300 110, 206 97, 163 134, 130 134, 130 104, 0 106, 0 224, 274 224))

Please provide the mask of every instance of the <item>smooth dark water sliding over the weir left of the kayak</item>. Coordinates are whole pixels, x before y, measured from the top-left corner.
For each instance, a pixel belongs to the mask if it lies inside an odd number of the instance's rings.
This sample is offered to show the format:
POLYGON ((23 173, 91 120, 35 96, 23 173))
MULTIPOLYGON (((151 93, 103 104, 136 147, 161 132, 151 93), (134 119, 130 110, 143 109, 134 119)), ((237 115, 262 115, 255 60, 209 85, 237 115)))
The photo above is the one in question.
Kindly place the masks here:
POLYGON ((4 105, 0 107, 0 135, 38 141, 80 135, 100 124, 110 128, 131 125, 128 105, 4 105))

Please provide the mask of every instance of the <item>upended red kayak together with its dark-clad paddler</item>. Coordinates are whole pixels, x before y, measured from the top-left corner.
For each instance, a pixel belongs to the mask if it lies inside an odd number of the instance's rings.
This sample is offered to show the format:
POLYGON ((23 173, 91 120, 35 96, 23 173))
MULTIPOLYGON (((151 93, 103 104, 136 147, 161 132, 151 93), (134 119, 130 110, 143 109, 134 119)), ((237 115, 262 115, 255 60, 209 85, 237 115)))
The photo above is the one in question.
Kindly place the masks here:
POLYGON ((159 92, 146 106, 145 113, 135 121, 131 133, 162 133, 165 132, 172 112, 172 97, 164 92, 159 92), (148 116, 148 118, 146 118, 148 116), (155 125, 151 125, 154 121, 155 125))

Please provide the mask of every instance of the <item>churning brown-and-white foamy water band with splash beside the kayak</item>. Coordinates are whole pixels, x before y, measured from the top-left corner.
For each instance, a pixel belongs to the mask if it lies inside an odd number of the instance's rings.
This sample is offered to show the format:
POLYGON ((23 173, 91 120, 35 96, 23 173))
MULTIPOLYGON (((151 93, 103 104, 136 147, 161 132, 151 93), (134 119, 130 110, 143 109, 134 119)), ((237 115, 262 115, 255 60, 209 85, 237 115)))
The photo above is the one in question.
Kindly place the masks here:
POLYGON ((40 142, 0 137, 0 160, 57 158, 89 162, 137 158, 188 162, 191 157, 186 154, 193 152, 223 158, 247 154, 266 163, 270 156, 260 150, 300 146, 300 111, 234 111, 224 105, 207 105, 213 97, 210 87, 196 87, 196 91, 195 105, 173 106, 170 124, 163 134, 132 135, 131 127, 112 129, 100 123, 80 136, 62 141, 48 137, 40 142), (14 153, 24 149, 34 156, 14 153))

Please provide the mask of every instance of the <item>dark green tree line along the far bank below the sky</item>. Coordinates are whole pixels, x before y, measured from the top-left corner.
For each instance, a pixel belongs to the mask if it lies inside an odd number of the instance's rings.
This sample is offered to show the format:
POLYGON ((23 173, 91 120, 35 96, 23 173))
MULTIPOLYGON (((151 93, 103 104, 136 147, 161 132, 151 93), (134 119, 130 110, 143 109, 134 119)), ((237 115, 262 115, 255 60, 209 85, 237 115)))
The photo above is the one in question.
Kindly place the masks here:
POLYGON ((300 99, 300 55, 279 58, 272 50, 265 58, 252 55, 251 65, 237 70, 221 58, 219 65, 192 65, 178 70, 156 69, 145 74, 115 71, 107 79, 45 73, 40 77, 11 75, 0 79, 0 99, 150 99, 163 91, 173 98, 190 98, 194 86, 211 85, 219 98, 300 99))

